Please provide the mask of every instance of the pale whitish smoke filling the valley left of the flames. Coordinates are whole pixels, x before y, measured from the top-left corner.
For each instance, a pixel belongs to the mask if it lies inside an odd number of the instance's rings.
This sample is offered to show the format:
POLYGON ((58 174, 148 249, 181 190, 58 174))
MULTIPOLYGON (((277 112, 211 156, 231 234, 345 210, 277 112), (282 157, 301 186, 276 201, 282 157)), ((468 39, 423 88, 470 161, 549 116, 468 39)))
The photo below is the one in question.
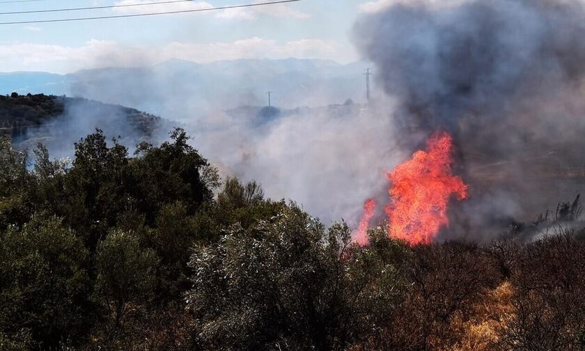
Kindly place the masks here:
POLYGON ((363 199, 384 196, 387 167, 406 157, 393 121, 380 117, 385 111, 334 105, 282 111, 259 124, 250 114, 222 113, 199 121, 193 143, 224 176, 256 180, 270 198, 292 199, 325 224, 357 226, 363 199))

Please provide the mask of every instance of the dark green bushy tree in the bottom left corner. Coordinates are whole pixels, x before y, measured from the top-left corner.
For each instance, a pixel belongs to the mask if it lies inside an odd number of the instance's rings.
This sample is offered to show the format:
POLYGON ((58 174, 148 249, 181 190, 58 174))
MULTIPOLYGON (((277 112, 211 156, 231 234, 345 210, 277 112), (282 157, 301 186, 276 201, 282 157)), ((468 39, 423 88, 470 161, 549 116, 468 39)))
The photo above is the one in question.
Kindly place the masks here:
POLYGON ((36 215, 0 234, 0 335, 29 331, 43 348, 81 340, 93 311, 87 263, 83 244, 56 217, 36 215))

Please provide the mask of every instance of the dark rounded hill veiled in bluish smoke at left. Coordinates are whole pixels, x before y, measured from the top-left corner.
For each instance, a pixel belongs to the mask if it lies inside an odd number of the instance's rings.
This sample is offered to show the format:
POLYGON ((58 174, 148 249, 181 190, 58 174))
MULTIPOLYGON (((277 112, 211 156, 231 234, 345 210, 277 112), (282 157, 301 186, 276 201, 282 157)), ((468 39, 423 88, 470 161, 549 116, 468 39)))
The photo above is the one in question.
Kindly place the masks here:
POLYGON ((157 141, 171 123, 146 112, 83 98, 55 95, 0 95, 0 134, 22 148, 42 142, 55 157, 72 155, 72 145, 99 128, 133 148, 157 141))

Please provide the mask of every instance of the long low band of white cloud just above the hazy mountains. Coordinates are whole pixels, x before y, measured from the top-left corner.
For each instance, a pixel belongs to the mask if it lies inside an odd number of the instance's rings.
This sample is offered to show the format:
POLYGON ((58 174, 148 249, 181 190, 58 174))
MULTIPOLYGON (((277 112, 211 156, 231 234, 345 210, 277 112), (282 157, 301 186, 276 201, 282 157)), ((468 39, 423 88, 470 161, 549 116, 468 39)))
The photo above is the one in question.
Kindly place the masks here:
POLYGON ((199 63, 236 59, 339 59, 344 50, 327 40, 303 39, 279 43, 263 38, 235 42, 170 42, 158 47, 128 46, 90 40, 81 47, 15 43, 0 45, 4 72, 40 70, 55 73, 104 67, 144 67, 169 59, 199 63))

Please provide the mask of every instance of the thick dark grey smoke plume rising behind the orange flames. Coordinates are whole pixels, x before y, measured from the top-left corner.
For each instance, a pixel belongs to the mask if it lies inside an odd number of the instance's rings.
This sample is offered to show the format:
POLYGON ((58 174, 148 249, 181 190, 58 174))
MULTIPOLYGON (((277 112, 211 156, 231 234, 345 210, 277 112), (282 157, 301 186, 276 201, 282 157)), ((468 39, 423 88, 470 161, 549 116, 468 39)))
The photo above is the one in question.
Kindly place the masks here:
POLYGON ((471 185, 455 221, 467 222, 462 235, 508 216, 527 219, 584 189, 581 1, 395 3, 362 17, 355 38, 398 99, 405 135, 455 137, 471 185))

